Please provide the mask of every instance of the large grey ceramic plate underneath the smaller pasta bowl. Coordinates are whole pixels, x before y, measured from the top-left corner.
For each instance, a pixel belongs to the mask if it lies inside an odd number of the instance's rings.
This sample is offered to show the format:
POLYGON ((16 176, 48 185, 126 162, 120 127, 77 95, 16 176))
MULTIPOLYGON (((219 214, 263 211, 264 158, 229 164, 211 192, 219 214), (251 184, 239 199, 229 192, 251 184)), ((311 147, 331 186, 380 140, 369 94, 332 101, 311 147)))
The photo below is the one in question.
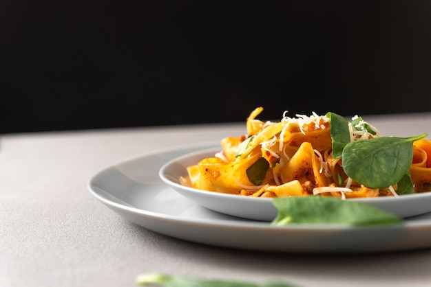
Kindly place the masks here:
POLYGON ((125 220, 166 236, 235 249, 289 253, 376 253, 431 247, 431 213, 402 225, 271 226, 222 214, 185 198, 158 176, 162 165, 218 143, 141 154, 108 166, 87 183, 90 193, 125 220))

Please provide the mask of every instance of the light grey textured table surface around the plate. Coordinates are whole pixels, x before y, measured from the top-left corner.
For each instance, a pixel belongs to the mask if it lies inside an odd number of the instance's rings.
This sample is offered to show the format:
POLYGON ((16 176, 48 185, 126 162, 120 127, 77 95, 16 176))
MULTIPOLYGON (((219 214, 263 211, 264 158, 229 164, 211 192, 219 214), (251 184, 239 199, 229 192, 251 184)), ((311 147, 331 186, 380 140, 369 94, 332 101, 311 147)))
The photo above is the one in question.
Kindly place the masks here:
MULTIPOLYGON (((384 135, 431 135, 431 113, 365 119, 384 135)), ((303 287, 431 286, 431 249, 313 255, 207 246, 128 222, 87 189, 93 174, 136 154, 243 133, 245 122, 1 135, 0 286, 137 286, 151 271, 303 287)))

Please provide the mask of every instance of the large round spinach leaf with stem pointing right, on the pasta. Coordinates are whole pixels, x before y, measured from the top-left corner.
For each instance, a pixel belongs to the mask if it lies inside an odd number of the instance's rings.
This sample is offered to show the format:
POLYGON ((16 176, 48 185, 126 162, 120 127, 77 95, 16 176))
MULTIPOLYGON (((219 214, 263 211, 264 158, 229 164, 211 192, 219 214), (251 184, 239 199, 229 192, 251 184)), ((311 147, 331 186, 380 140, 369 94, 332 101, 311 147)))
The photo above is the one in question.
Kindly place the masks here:
POLYGON ((426 136, 375 137, 352 141, 343 150, 344 172, 366 187, 395 185, 410 170, 413 141, 426 136))

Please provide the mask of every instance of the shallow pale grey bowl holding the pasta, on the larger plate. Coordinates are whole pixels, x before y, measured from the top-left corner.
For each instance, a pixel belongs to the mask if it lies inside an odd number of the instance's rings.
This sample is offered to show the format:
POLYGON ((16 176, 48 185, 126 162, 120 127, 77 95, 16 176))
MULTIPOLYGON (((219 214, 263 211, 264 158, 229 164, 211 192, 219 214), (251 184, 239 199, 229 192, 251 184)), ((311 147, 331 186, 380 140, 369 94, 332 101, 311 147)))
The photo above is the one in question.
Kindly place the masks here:
MULTIPOLYGON (((214 211, 251 220, 272 221, 277 216, 277 209, 272 203, 273 198, 239 196, 223 194, 187 187, 180 183, 180 178, 187 176, 187 166, 198 163, 201 159, 213 157, 221 148, 199 150, 173 159, 162 165, 159 176, 176 192, 189 198, 198 205, 214 211)), ((426 214, 431 211, 431 192, 407 194, 378 198, 352 198, 362 203, 374 205, 380 209, 397 214, 402 218, 426 214)))

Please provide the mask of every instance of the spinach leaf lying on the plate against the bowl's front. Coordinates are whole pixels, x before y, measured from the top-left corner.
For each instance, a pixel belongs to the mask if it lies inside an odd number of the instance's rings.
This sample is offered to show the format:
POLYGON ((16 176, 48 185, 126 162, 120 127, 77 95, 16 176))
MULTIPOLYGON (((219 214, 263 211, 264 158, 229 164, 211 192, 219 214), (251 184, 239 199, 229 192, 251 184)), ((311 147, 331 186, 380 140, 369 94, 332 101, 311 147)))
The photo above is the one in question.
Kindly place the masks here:
POLYGON ((291 196, 273 198, 277 216, 271 225, 324 223, 347 225, 391 225, 403 218, 373 205, 330 196, 291 196))

